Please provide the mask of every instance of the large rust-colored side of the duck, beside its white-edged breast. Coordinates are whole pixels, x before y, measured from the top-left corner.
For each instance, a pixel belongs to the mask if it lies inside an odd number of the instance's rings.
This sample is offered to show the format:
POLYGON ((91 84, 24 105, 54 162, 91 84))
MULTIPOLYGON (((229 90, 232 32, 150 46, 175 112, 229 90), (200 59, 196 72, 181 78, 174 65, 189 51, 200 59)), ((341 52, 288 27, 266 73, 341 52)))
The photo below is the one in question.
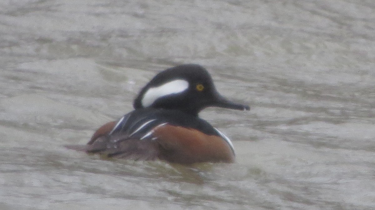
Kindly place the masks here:
POLYGON ((234 162, 230 146, 220 136, 195 129, 165 125, 154 130, 160 145, 159 158, 174 163, 234 162))

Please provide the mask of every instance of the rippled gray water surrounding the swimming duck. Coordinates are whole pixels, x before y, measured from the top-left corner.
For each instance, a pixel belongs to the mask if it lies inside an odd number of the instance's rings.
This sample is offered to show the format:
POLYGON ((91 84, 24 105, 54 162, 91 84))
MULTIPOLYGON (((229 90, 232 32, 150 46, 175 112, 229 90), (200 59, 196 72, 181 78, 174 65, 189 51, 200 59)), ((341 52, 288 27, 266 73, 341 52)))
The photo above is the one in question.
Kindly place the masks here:
POLYGON ((375 1, 0 2, 0 209, 375 209, 375 1), (234 164, 101 160, 65 144, 197 63, 248 112, 200 116, 234 164))

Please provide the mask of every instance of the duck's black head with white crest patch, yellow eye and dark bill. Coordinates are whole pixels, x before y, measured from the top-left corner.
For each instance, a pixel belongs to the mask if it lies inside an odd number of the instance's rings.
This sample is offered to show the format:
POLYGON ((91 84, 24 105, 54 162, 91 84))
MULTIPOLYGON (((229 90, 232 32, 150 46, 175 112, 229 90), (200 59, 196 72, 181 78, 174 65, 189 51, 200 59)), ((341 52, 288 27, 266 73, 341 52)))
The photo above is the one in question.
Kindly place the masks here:
POLYGON ((208 106, 249 110, 221 96, 210 74, 200 65, 186 64, 168 68, 155 75, 135 98, 133 106, 140 108, 178 109, 198 115, 208 106))

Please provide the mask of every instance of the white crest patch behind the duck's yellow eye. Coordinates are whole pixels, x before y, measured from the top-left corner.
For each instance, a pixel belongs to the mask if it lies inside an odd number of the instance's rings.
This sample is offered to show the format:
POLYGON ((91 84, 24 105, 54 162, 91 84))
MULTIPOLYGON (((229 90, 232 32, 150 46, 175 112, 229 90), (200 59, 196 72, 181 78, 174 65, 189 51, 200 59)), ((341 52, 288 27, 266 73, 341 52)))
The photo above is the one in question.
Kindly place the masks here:
POLYGON ((143 95, 142 106, 148 107, 160 97, 181 93, 188 88, 189 83, 186 80, 173 80, 157 87, 151 87, 143 95))

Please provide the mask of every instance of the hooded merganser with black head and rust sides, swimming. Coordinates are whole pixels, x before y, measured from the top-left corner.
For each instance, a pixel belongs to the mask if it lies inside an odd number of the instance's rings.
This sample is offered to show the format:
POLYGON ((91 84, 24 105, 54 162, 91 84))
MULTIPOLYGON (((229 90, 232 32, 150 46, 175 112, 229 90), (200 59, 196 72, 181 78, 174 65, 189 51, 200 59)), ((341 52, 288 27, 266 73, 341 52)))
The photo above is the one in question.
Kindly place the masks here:
POLYGON ((141 89, 133 102, 135 110, 100 127, 87 145, 67 147, 108 158, 231 163, 231 140, 198 117, 208 106, 250 109, 221 96, 200 65, 168 68, 141 89))

